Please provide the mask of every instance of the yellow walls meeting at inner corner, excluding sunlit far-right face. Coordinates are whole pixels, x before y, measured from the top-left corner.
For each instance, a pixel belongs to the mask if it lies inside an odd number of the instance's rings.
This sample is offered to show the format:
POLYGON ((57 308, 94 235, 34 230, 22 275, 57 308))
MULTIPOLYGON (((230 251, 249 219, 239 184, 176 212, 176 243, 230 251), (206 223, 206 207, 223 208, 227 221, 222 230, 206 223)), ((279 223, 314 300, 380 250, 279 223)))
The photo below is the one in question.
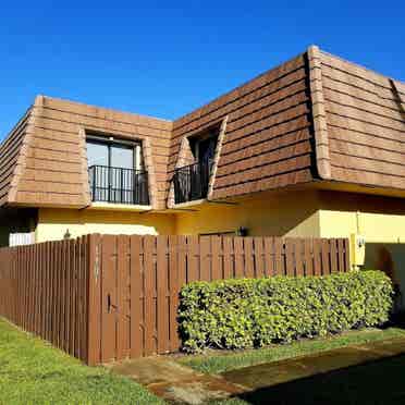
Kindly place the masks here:
POLYGON ((40 209, 36 241, 62 240, 68 231, 72 237, 88 233, 197 235, 235 232, 241 226, 251 236, 319 237, 317 198, 314 191, 268 193, 240 199, 236 205, 204 204, 196 211, 175 214, 40 209))

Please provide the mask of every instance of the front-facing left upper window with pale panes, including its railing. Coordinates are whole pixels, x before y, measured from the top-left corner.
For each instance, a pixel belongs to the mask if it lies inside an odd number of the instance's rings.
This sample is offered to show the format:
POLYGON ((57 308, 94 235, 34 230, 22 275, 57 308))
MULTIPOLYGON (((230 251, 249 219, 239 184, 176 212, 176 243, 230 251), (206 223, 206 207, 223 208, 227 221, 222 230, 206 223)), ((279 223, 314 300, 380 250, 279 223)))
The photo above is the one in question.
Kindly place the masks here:
POLYGON ((93 201, 149 204, 140 143, 89 136, 87 162, 93 201))

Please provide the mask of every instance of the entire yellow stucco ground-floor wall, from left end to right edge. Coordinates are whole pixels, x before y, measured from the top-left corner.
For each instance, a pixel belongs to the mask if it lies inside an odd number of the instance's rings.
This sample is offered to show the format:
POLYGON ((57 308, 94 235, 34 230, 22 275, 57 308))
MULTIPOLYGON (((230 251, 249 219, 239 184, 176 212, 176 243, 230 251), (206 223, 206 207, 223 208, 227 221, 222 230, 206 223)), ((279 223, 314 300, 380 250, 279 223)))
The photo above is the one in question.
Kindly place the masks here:
POLYGON ((349 237, 358 233, 369 243, 405 243, 405 202, 361 194, 295 191, 262 193, 236 205, 204 204, 193 211, 139 213, 110 210, 40 209, 37 242, 87 233, 179 234, 235 232, 248 235, 349 237))

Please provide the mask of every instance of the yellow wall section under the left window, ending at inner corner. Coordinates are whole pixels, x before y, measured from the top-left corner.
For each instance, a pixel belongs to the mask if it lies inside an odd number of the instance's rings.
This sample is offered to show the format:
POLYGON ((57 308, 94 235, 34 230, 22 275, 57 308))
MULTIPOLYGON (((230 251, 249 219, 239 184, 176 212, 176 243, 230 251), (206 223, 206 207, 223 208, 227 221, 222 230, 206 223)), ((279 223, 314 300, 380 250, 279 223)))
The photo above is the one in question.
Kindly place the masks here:
POLYGON ((66 231, 72 237, 89 233, 103 234, 174 234, 172 214, 146 214, 108 210, 40 209, 36 242, 63 240, 66 231))

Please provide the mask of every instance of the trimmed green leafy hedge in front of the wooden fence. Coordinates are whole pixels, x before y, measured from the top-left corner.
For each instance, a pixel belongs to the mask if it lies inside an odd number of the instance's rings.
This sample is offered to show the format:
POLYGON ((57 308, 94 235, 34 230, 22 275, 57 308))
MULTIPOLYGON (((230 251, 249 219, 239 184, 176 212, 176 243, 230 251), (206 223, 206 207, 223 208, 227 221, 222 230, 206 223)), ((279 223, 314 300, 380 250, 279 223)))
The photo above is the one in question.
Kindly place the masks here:
POLYGON ((391 280, 371 270, 194 282, 181 292, 183 348, 257 347, 380 326, 392 296, 391 280))

